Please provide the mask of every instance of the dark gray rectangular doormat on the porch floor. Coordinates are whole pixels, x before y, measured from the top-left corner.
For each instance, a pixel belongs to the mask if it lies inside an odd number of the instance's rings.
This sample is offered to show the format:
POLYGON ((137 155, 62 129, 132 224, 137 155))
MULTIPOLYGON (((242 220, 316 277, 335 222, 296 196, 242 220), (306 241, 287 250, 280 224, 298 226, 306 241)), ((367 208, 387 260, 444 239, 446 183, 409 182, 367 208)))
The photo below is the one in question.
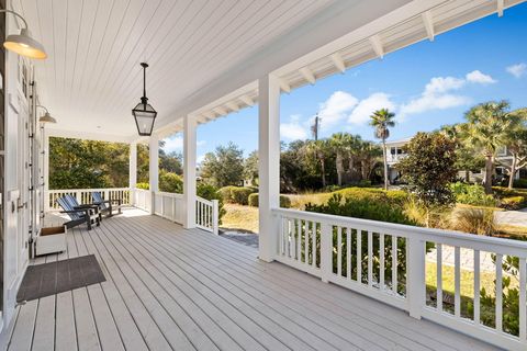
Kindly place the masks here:
POLYGON ((93 254, 30 265, 22 280, 16 302, 55 295, 105 280, 93 254))

